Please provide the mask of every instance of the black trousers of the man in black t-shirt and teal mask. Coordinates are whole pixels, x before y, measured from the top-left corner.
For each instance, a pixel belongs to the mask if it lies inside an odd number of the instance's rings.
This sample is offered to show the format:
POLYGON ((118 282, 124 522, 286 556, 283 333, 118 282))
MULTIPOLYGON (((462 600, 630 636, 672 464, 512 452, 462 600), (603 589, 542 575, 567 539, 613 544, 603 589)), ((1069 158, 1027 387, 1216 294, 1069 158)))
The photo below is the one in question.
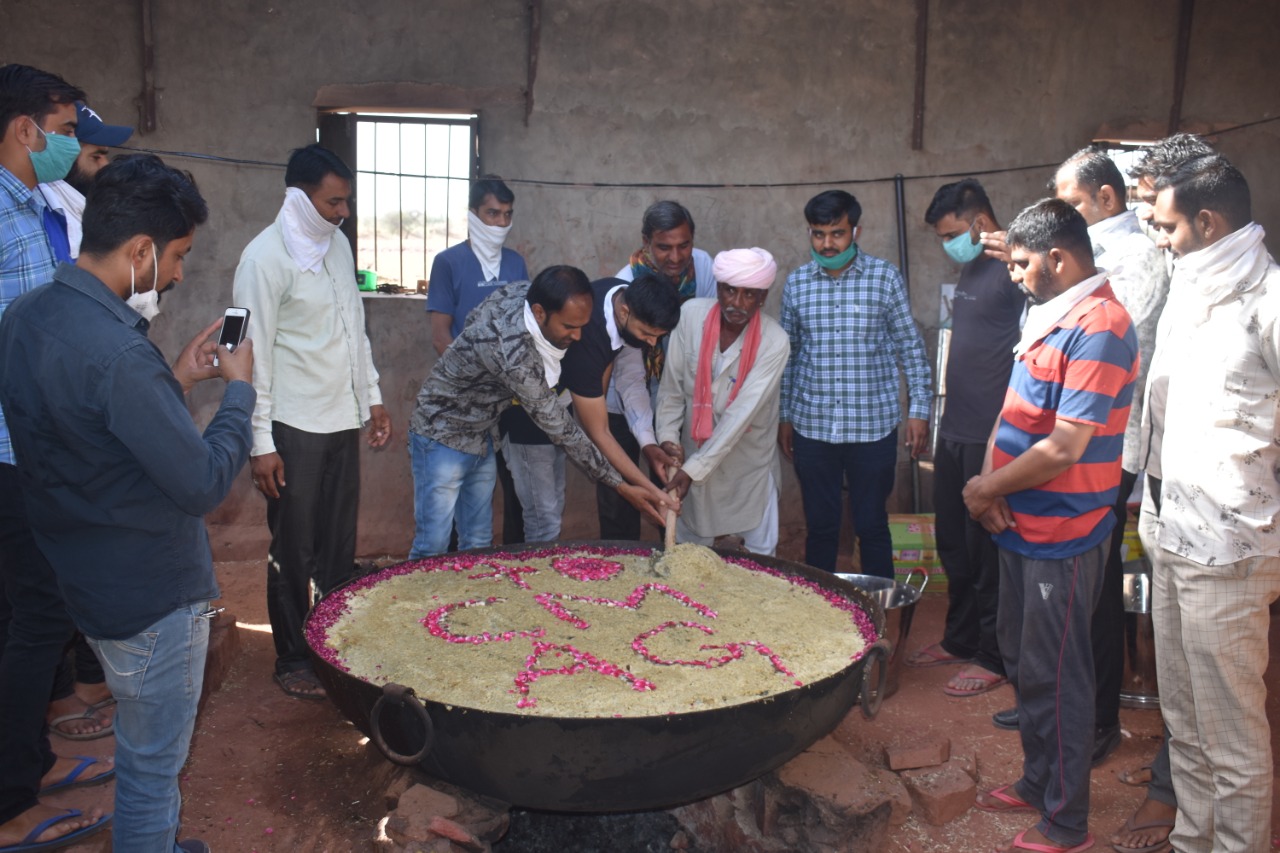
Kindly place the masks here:
POLYGON ((933 507, 938 557, 947 573, 947 621, 942 648, 972 657, 992 672, 1005 674, 996 637, 1000 608, 1000 549, 980 524, 969 517, 964 484, 982 473, 986 444, 938 439, 933 457, 933 507))

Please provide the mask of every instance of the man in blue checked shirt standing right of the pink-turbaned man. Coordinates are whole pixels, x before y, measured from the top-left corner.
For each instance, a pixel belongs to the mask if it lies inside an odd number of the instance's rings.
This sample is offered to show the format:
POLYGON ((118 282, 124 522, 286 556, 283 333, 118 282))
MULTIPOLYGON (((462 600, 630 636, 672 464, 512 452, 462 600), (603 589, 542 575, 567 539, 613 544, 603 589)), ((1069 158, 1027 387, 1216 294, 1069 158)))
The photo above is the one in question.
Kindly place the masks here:
POLYGON ((899 362, 910 407, 911 456, 929 438, 931 378, 902 277, 858 247, 863 213, 844 190, 809 200, 813 260, 787 277, 782 328, 791 360, 782 373, 778 442, 795 464, 804 501, 805 562, 836 570, 849 480, 863 574, 893 576, 886 501, 897 467, 899 362))

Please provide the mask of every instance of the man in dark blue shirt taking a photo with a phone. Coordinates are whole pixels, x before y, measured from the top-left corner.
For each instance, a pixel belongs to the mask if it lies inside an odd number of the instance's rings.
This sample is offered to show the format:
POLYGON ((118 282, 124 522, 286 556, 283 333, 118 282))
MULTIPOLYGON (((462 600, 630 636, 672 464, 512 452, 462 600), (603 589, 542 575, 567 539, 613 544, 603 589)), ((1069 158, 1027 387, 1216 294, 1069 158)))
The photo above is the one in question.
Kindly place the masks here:
POLYGON ((189 177, 157 158, 113 163, 84 209, 77 265, 0 321, 0 403, 31 526, 118 702, 116 850, 209 849, 174 843, 178 772, 220 594, 204 516, 248 460, 253 348, 224 348, 215 368, 215 321, 170 369, 125 305, 182 280, 207 215, 189 177), (227 392, 201 434, 183 394, 219 375, 227 392))

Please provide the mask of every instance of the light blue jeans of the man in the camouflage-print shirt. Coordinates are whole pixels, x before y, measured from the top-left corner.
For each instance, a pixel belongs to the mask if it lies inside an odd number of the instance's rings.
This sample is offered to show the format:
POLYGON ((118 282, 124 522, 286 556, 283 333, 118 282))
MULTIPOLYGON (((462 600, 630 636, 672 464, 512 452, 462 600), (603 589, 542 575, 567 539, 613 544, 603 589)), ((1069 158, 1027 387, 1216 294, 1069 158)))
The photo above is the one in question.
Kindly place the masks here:
POLYGON ((493 544, 493 487, 498 465, 493 446, 484 456, 445 447, 434 438, 408 434, 413 469, 413 547, 410 560, 444 553, 458 528, 458 549, 493 544))

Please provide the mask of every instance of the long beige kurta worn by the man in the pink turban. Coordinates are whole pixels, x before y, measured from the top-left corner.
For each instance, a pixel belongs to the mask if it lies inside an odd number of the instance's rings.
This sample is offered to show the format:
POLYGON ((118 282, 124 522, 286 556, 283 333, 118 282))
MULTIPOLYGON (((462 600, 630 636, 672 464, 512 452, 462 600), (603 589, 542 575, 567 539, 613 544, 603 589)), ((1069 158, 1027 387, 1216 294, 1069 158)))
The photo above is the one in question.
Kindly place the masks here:
POLYGON ((694 484, 684 500, 681 519, 703 537, 751 530, 764 516, 768 501, 777 500, 768 482, 771 471, 774 483, 782 482, 778 394, 782 368, 791 353, 786 332, 762 314, 755 365, 731 405, 728 394, 739 379, 742 355, 744 336, 739 336, 718 359, 719 370, 712 380, 716 425, 712 437, 698 447, 690 438, 698 352, 707 314, 718 310, 716 300, 705 298, 689 300, 681 309, 680 324, 667 346, 655 415, 658 441, 680 442, 685 448, 684 469, 694 484))

